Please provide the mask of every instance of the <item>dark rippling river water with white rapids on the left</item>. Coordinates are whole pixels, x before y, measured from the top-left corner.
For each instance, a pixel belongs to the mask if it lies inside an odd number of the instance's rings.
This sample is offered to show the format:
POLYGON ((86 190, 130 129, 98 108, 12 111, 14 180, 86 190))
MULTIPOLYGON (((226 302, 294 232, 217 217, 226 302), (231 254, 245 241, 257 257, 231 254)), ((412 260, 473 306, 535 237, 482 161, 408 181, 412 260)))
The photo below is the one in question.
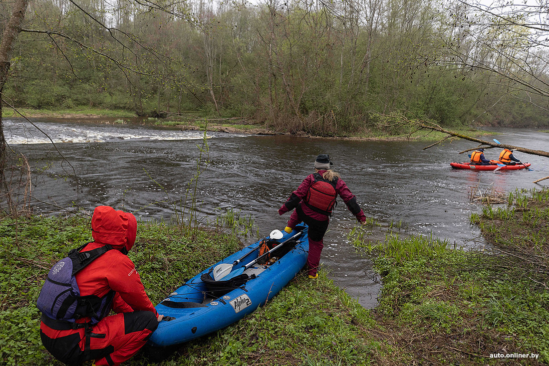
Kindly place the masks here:
MULTIPOLYGON (((458 153, 477 146, 461 139, 423 150, 430 143, 208 132, 206 154, 199 149, 204 132, 154 128, 139 121, 125 125, 33 122, 4 120, 4 128, 10 147, 25 154, 32 167, 48 172, 33 178, 32 194, 41 202, 89 211, 97 205, 110 205, 142 219, 170 219, 173 209, 168 201, 184 198, 202 154, 203 161, 207 155, 209 162, 198 178, 200 215, 239 211, 253 217, 260 235, 285 226, 289 213, 279 216, 277 210, 313 171, 313 161, 320 153, 330 154, 334 170, 357 196, 367 216, 382 226, 401 222, 409 232, 433 234, 457 246, 483 245, 478 228, 469 223, 470 214, 480 211, 480 204, 468 197, 471 189, 511 192, 540 188, 532 182, 549 176, 546 158, 523 153, 515 155, 531 162, 532 171, 453 170, 450 162, 468 161, 467 154, 458 153), (64 179, 73 168, 77 179, 64 179)), ((497 134, 483 139, 496 138, 530 149, 549 148, 549 133, 527 129, 491 132, 497 134)), ((498 149, 485 150, 488 159, 497 159, 498 154, 498 149)), ((54 210, 41 202, 36 204, 38 210, 54 210)), ((370 259, 346 238, 355 225, 354 217, 339 202, 324 239, 321 261, 335 284, 371 308, 381 284, 370 259)), ((383 234, 373 235, 383 238, 383 234)))

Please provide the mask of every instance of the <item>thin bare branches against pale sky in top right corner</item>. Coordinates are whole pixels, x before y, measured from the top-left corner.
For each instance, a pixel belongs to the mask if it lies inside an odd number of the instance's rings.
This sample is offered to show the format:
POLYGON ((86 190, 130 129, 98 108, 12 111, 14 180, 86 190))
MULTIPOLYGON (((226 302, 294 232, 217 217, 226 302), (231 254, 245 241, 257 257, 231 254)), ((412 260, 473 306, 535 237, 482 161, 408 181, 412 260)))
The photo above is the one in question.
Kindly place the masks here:
POLYGON ((453 27, 437 63, 478 72, 485 84, 549 110, 549 6, 537 3, 458 0, 447 5, 453 27))

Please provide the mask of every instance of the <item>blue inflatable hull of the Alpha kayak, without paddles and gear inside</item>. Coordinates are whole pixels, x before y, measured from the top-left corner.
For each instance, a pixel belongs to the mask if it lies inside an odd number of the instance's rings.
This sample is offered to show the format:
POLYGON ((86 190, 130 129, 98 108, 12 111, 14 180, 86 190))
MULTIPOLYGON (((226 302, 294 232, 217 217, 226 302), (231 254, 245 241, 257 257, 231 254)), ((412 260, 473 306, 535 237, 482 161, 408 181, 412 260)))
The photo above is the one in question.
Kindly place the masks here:
MULTIPOLYGON (((305 226, 302 235, 296 238, 297 243, 293 249, 275 263, 263 266, 254 264, 244 272, 252 275, 252 279, 220 297, 208 296, 211 294, 211 284, 208 288, 201 275, 209 273, 217 264, 232 264, 244 254, 251 252, 241 263, 233 267, 233 271, 242 268, 242 265, 257 258, 259 250, 253 249, 259 249, 260 241, 204 269, 188 280, 156 306, 159 314, 174 319, 159 323, 158 329, 149 339, 149 345, 165 347, 196 339, 225 328, 255 311, 257 307, 264 306, 305 266, 309 253, 307 230, 305 226)), ((284 237, 278 241, 282 243, 296 233, 298 232, 295 230, 291 234, 283 232, 284 237)), ((290 243, 283 246, 285 245, 290 243)))

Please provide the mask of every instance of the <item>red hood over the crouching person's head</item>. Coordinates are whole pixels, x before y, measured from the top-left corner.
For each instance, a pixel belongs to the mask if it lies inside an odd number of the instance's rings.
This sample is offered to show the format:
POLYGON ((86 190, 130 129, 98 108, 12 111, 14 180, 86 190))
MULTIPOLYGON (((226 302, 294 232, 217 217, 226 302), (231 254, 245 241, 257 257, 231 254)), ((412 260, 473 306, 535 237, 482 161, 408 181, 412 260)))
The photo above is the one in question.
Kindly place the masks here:
POLYGON ((98 206, 92 216, 92 237, 98 244, 130 250, 136 241, 137 220, 129 212, 98 206))

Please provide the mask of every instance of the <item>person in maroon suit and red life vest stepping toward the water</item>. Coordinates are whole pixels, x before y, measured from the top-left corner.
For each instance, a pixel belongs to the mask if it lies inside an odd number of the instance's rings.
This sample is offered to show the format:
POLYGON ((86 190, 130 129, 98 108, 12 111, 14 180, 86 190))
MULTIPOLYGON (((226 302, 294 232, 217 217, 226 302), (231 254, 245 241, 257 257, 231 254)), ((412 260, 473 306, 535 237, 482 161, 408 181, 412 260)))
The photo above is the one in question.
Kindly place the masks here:
POLYGON ((291 233, 300 222, 309 226, 309 278, 318 278, 317 268, 324 247, 323 238, 338 195, 357 221, 361 224, 366 223, 366 216, 358 206, 355 195, 351 193, 339 173, 332 170, 332 165, 328 154, 318 155, 315 160, 315 173, 309 174, 278 209, 279 215, 295 209, 290 215, 288 226, 284 229, 287 233, 291 233))

